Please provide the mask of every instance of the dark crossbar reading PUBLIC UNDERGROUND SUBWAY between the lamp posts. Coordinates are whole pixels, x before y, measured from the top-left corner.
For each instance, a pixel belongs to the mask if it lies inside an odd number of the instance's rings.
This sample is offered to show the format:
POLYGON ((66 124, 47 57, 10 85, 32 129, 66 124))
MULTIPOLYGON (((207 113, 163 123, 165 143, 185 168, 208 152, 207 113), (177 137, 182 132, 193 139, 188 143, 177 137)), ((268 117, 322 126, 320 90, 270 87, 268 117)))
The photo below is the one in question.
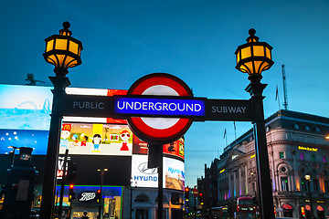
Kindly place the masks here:
POLYGON ((252 99, 207 99, 154 95, 66 95, 64 115, 81 117, 188 118, 252 121, 252 99))

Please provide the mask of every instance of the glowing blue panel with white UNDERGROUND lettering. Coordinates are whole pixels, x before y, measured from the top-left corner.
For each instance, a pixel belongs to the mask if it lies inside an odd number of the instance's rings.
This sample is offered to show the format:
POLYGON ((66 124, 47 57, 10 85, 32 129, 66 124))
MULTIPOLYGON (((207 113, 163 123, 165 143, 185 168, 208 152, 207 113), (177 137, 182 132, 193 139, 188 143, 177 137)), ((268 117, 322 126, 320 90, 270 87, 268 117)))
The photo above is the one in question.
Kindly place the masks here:
POLYGON ((158 116, 205 116, 200 99, 115 98, 114 111, 124 114, 158 116))

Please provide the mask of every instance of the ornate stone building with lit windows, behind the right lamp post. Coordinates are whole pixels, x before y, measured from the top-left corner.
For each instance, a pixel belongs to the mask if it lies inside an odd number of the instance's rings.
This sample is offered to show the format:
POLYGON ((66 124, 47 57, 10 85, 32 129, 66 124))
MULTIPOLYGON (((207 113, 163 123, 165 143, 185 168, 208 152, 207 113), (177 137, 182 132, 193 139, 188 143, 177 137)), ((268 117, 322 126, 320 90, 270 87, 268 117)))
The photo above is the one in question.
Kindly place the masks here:
MULTIPOLYGON (((329 215, 329 119, 280 110, 266 120, 267 147, 276 216, 317 218, 329 215), (310 180, 306 180, 307 176, 310 180), (306 177, 305 177, 306 176, 306 177)), ((236 212, 237 198, 258 200, 253 130, 225 148, 205 177, 198 179, 204 193, 204 213, 220 206, 236 212)))

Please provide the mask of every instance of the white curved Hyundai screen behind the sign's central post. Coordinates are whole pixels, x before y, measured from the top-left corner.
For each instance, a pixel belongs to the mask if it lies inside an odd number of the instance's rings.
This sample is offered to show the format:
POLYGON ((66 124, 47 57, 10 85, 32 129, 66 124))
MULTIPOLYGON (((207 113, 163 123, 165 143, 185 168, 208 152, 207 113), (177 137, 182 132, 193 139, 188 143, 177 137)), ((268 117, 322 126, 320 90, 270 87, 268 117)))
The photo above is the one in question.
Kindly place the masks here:
MULTIPOLYGON (((158 186, 157 168, 147 168, 147 156, 133 154, 132 184, 136 187, 158 186)), ((164 157, 164 188, 184 190, 185 165, 184 162, 164 157)))

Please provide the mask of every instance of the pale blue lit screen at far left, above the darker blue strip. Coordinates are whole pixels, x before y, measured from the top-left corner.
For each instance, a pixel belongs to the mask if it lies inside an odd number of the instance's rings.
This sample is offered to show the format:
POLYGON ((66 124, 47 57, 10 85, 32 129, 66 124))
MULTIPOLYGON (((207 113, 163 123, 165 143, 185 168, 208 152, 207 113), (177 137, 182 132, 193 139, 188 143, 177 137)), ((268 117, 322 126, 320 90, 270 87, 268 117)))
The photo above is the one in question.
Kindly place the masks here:
POLYGON ((0 85, 0 129, 49 130, 49 87, 0 85))

